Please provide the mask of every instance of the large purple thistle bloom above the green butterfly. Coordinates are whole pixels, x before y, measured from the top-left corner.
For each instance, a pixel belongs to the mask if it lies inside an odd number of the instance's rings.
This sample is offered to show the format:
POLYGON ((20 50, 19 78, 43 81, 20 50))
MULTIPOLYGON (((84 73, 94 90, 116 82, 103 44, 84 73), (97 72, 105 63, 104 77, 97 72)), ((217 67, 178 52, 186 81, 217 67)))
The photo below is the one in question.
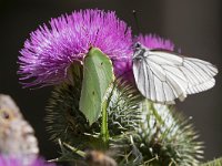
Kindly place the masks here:
POLYGON ((131 30, 113 11, 80 10, 51 19, 49 27, 39 27, 24 42, 19 56, 20 80, 28 81, 24 86, 61 83, 70 64, 82 61, 91 45, 119 66, 131 59, 131 30))

